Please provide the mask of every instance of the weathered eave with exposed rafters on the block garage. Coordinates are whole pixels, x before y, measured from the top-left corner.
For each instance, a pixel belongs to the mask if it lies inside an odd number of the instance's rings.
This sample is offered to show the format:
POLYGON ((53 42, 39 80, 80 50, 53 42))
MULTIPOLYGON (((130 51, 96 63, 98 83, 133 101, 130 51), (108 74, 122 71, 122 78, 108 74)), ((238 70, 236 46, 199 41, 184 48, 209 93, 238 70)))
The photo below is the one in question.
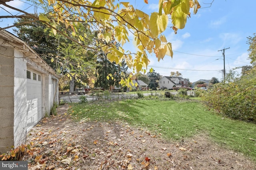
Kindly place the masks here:
MULTIPOLYGON (((0 37, 5 40, 0 46, 13 46, 15 49, 21 51, 24 54, 25 59, 30 59, 34 63, 38 64, 40 67, 42 67, 44 70, 50 72, 56 77, 60 77, 56 74, 54 69, 44 61, 34 49, 32 49, 25 41, 18 38, 17 36, 13 35, 12 33, 1 30, 0 31, 0 37)), ((28 62, 28 65, 31 65, 31 63, 28 62)))

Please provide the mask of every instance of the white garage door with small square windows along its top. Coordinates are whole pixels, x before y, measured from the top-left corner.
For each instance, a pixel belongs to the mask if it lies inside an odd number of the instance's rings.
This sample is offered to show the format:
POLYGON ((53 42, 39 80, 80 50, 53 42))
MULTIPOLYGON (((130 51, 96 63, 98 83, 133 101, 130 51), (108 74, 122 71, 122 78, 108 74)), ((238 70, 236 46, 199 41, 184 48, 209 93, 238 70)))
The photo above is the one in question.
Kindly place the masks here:
POLYGON ((42 74, 27 70, 27 132, 42 119, 42 74))

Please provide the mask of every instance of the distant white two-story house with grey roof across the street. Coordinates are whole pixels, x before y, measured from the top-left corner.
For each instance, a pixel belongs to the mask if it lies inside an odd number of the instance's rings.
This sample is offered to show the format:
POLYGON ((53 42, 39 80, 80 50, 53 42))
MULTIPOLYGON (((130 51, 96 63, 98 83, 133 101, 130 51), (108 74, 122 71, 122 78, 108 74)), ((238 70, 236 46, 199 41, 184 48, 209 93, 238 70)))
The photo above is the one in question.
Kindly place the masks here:
POLYGON ((172 89, 174 85, 176 87, 187 87, 188 81, 186 80, 186 78, 175 77, 175 76, 163 76, 159 80, 160 89, 162 88, 172 89))

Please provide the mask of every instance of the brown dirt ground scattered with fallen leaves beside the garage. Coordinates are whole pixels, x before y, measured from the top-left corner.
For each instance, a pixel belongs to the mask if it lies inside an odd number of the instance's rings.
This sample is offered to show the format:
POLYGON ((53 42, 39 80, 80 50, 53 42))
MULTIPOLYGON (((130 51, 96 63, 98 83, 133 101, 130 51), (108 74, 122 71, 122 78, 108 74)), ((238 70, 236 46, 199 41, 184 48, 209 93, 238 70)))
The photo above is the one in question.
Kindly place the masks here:
POLYGON ((206 134, 180 142, 120 121, 75 122, 59 106, 28 133, 32 170, 253 170, 255 162, 222 149, 206 134))

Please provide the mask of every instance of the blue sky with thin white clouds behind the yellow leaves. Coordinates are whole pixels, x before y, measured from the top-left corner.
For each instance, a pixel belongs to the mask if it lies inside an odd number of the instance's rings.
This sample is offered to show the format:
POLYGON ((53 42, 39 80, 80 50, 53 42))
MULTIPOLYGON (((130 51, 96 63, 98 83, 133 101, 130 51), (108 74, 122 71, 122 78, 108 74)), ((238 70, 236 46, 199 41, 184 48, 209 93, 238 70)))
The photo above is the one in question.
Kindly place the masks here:
MULTIPOLYGON (((121 0, 120 0, 121 1, 121 0)), ((124 0, 122 2, 128 2, 124 0)), ((170 28, 164 32, 167 40, 172 43, 174 51, 173 58, 166 56, 158 62, 154 55, 148 55, 150 66, 162 76, 169 76, 170 72, 179 71, 183 78, 189 78, 190 82, 200 79, 211 79, 216 77, 222 79, 224 61, 222 50, 225 50, 225 67, 226 72, 230 69, 249 65, 248 48, 246 44, 248 36, 256 33, 256 13, 254 8, 256 1, 250 0, 242 2, 239 0, 214 0, 209 8, 206 3, 212 0, 198 0, 202 8, 198 10, 196 15, 191 14, 188 18, 184 29, 178 30, 177 34, 170 28), (204 4, 205 3, 205 4, 204 4)), ((26 2, 26 1, 24 1, 26 2)), ((158 11, 158 1, 148 0, 149 4, 144 4, 144 0, 130 0, 134 3, 134 7, 147 13, 158 11)), ((19 0, 9 2, 11 6, 20 9, 28 8, 28 4, 24 4, 19 0)), ((34 11, 30 7, 26 10, 34 11)), ((191 11, 191 13, 193 13, 191 11)), ((0 9, 0 16, 6 15, 3 9, 0 9)), ((0 25, 11 25, 13 20, 4 20, 0 25)), ((0 26, 3 27, 3 26, 0 26)), ((10 31, 10 29, 8 30, 10 31)), ((130 43, 124 48, 135 51, 132 45, 132 35, 129 36, 130 43)), ((240 73, 240 70, 238 70, 240 73)))

